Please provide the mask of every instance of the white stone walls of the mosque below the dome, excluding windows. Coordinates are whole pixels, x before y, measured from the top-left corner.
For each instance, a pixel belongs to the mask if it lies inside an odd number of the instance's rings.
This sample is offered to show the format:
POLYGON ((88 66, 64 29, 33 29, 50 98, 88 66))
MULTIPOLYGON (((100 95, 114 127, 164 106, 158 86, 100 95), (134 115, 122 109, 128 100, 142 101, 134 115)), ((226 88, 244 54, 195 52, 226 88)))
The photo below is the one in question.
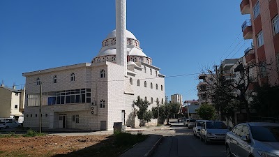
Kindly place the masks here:
MULTIPOLYGON (((39 126, 39 102, 29 106, 29 96, 40 93, 40 85, 36 84, 37 78, 42 82, 42 93, 65 91, 73 89, 91 89, 90 103, 69 103, 63 105, 48 105, 49 102, 42 100, 42 126, 43 128, 78 128, 85 130, 112 130, 114 122, 121 122, 121 112, 125 111, 126 126, 138 126, 137 119, 130 119, 133 114, 133 100, 140 96, 145 97, 149 102, 153 98, 153 103, 149 106, 156 107, 158 98, 159 104, 165 100, 165 79, 160 75, 159 69, 145 63, 137 63, 134 71, 128 71, 125 77, 119 73, 123 66, 116 63, 81 63, 73 66, 65 66, 40 70, 31 73, 24 73, 26 77, 27 102, 24 110, 24 126, 39 126), (144 66, 152 69, 153 73, 144 73, 144 66), (100 77, 100 70, 105 70, 105 77, 100 77), (156 72, 157 71, 157 72, 156 72), (130 73, 129 73, 130 72, 130 73), (75 73, 75 81, 70 81, 70 74, 75 73), (157 73, 157 75, 156 75, 157 73), (56 75, 57 82, 54 83, 53 77, 56 75), (133 84, 130 84, 130 78, 133 84), (140 86, 137 86, 140 80, 140 86), (146 81, 147 86, 144 87, 146 81), (151 82, 153 89, 151 89, 151 82), (158 84, 158 89, 156 89, 158 84), (163 87, 163 90, 162 90, 163 87), (105 107, 100 107, 100 100, 105 100, 105 107), (97 107, 97 114, 91 114, 92 103, 97 107), (59 115, 65 116, 65 126, 59 126, 59 115), (73 121, 73 116, 78 115, 79 121, 73 121), (101 128, 101 122, 105 123, 105 128, 101 128)), ((56 92, 58 93, 58 92, 56 92)), ((56 96, 57 98, 57 96, 56 96)), ((61 122, 60 122, 61 123, 61 122)), ((151 121, 156 124, 156 121, 151 121)))

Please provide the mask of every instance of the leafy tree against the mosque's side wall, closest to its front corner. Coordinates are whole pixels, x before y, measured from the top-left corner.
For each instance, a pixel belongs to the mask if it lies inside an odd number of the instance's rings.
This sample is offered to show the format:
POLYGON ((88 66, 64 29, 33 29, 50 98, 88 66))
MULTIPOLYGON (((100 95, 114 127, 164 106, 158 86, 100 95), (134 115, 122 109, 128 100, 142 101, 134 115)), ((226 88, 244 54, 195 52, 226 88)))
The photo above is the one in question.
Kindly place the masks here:
POLYGON ((149 122, 151 121, 150 119, 152 118, 150 112, 147 112, 147 108, 150 105, 150 103, 146 100, 142 100, 140 96, 137 96, 137 100, 133 101, 133 105, 139 107, 139 110, 136 110, 137 117, 140 119, 140 126, 144 126, 146 121, 149 122), (146 113, 147 112, 147 113, 146 113), (151 117, 149 119, 149 117, 151 117))

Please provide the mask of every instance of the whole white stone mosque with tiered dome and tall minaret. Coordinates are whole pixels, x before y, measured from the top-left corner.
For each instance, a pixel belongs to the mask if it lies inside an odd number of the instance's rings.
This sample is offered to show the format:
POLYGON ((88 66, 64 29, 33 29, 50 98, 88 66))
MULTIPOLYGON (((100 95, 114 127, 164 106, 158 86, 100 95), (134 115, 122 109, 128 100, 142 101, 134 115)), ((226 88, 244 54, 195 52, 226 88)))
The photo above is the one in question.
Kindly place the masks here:
MULTIPOLYGON (((91 63, 22 75, 26 77, 24 127, 39 127, 40 104, 43 128, 112 130, 114 122, 139 126, 133 106, 137 96, 151 103, 149 110, 165 103, 165 75, 126 30, 126 0, 116 0, 116 30, 103 40, 91 63)), ((152 119, 149 125, 156 123, 152 119)))

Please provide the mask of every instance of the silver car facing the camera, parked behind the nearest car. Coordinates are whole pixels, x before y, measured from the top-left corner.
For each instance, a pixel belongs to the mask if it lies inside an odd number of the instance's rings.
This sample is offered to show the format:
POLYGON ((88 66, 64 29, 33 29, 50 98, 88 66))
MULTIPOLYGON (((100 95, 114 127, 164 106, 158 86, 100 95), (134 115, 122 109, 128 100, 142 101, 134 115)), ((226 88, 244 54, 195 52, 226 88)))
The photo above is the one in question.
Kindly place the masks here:
POLYGON ((228 131, 223 121, 205 121, 201 127, 200 140, 205 144, 225 142, 225 135, 228 131))

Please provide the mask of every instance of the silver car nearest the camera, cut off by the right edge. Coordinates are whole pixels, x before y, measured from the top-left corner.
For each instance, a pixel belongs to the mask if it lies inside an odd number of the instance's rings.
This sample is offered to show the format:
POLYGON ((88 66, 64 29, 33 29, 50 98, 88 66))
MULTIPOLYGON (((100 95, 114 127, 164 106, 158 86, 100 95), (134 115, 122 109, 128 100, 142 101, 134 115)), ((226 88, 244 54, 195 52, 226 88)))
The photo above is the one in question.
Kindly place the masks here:
POLYGON ((279 124, 243 123, 226 135, 227 156, 279 156, 279 124))

